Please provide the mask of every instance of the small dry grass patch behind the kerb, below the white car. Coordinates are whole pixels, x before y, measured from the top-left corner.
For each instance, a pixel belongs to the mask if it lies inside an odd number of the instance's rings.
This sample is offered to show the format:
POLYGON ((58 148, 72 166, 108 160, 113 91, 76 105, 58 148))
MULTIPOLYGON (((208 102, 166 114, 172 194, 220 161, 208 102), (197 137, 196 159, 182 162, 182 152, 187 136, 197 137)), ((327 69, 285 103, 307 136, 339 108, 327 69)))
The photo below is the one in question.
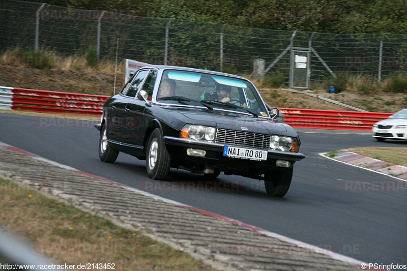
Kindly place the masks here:
POLYGON ((407 147, 357 147, 350 152, 407 167, 407 147))

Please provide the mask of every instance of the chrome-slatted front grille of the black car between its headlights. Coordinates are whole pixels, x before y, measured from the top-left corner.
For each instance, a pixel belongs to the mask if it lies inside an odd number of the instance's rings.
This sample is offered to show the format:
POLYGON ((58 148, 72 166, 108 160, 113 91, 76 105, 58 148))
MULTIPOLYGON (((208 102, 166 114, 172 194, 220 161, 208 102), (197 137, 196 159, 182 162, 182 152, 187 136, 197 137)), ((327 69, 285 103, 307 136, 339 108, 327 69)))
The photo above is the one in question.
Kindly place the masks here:
POLYGON ((269 148, 270 139, 271 139, 270 135, 218 129, 216 132, 215 142, 225 145, 237 145, 254 148, 269 148))

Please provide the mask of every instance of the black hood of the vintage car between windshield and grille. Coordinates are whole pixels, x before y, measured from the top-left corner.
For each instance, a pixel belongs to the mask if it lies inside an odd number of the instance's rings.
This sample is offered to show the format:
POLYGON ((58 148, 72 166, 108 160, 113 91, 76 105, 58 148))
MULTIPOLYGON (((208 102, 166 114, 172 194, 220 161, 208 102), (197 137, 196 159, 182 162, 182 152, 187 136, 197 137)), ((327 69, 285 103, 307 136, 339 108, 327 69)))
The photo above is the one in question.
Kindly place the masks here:
MULTIPOLYGON (((273 132, 285 134, 290 128, 286 124, 275 123, 271 119, 248 116, 237 112, 220 110, 178 109, 184 121, 190 124, 215 125, 219 129, 239 130, 251 133, 272 134, 273 132)), ((291 128, 292 129, 292 128, 291 128)))

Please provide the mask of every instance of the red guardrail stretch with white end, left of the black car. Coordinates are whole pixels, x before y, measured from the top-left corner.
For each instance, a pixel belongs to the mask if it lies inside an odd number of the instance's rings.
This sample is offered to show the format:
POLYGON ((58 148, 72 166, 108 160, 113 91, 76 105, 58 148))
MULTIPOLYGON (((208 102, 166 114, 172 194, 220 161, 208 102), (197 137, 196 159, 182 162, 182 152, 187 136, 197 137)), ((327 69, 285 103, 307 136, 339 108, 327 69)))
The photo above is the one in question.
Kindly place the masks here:
POLYGON ((0 109, 99 116, 108 97, 0 86, 0 109))

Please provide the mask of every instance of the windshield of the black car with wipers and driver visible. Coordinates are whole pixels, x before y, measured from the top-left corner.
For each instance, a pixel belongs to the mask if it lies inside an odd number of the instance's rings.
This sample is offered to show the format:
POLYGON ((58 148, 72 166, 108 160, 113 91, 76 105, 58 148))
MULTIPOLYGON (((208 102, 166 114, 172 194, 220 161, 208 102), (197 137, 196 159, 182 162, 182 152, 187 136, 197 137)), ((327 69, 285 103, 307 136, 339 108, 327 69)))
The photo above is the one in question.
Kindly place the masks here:
POLYGON ((268 116, 254 86, 245 80, 200 72, 166 70, 156 100, 159 103, 205 106, 268 116))

